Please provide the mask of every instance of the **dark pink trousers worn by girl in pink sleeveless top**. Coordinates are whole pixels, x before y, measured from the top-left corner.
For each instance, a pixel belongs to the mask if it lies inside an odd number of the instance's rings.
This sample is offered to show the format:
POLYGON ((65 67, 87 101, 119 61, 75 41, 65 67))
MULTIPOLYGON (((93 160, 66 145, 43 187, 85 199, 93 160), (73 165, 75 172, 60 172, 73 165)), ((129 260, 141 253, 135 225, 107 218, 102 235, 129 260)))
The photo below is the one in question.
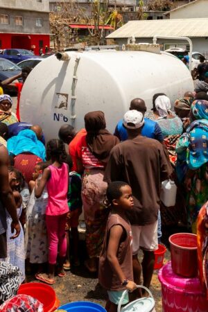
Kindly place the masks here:
POLYGON ((60 257, 65 257, 67 253, 67 238, 65 226, 67 214, 60 216, 47 216, 46 227, 49 240, 49 263, 55 264, 59 251, 60 257))

